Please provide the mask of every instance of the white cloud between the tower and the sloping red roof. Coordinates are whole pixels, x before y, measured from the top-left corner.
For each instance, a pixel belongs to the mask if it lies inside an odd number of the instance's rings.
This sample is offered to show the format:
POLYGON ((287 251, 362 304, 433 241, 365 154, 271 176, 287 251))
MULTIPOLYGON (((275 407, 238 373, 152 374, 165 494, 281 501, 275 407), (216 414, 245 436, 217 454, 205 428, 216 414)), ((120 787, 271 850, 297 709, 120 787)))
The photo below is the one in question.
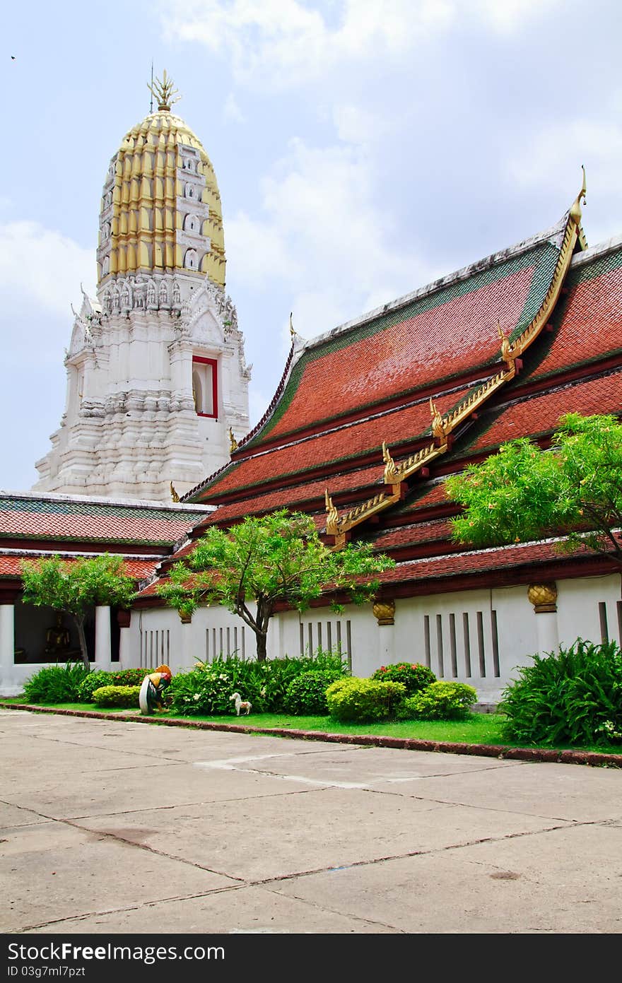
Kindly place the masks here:
POLYGON ((240 286, 290 291, 305 338, 413 290, 438 274, 393 245, 394 223, 363 150, 290 142, 261 184, 256 216, 226 220, 240 286))

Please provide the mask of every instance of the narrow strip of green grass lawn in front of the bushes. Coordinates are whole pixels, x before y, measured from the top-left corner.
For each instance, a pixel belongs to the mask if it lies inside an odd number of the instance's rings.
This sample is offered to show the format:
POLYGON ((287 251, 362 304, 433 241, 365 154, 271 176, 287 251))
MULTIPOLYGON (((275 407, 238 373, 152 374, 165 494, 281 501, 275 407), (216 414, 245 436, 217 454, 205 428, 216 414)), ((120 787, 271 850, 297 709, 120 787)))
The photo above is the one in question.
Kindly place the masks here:
MULTIPOLYGON (((23 704, 24 697, 0 698, 0 702, 23 704)), ((102 714, 136 714, 137 710, 117 710, 98 707, 94 703, 59 703, 47 704, 49 709, 95 711, 102 714)), ((170 711, 158 714, 160 719, 175 718, 170 711)), ((394 723, 337 723, 330 717, 294 717, 289 714, 251 714, 249 717, 183 717, 180 720, 197 721, 198 723, 240 723, 243 726, 266 728, 281 728, 292 730, 322 730, 325 733, 343 734, 378 734, 387 737, 416 737, 421 740, 448 741, 462 744, 505 744, 509 747, 529 746, 507 740, 503 736, 503 716, 501 714, 469 714, 463 721, 399 721, 394 723)), ((573 747, 570 744, 555 744, 556 750, 601 751, 606 754, 622 755, 620 744, 591 744, 573 747)))

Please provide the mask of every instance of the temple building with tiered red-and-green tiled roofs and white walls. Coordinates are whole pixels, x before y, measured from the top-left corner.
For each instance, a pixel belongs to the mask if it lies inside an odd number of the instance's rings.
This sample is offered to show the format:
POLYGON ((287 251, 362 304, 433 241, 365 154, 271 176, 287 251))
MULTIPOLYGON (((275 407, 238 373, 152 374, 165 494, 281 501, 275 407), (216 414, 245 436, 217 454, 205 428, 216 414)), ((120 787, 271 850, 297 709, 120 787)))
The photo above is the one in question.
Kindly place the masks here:
POLYGON ((622 642, 611 556, 562 554, 555 537, 458 544, 458 505, 445 491, 448 475, 513 437, 547 447, 564 413, 622 415, 622 236, 590 248, 584 200, 585 184, 546 231, 308 342, 293 333, 263 418, 179 503, 1 500, 0 693, 18 692, 45 650, 42 622, 31 641, 20 563, 51 552, 112 549, 138 564, 132 611, 93 616, 105 628, 95 630, 98 667, 253 658, 239 618, 211 606, 182 619, 157 587, 210 526, 283 506, 311 515, 335 549, 364 541, 396 565, 380 574, 373 605, 336 614, 326 593, 305 613, 280 610, 268 658, 339 645, 361 676, 421 662, 493 705, 536 652, 578 637, 622 642))

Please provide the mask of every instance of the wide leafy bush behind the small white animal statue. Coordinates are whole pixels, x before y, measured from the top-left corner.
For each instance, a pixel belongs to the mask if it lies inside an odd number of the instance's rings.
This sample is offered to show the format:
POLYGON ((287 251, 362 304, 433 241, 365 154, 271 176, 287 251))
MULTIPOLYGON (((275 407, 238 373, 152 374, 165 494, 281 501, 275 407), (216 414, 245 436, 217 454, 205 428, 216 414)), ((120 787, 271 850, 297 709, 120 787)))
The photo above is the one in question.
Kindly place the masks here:
POLYGON ((254 713, 279 713, 284 709, 290 683, 302 673, 321 671, 331 677, 343 675, 347 666, 340 652, 318 649, 299 659, 246 662, 237 656, 198 662, 192 669, 177 672, 167 690, 171 710, 184 717, 235 714, 231 694, 239 692, 250 700, 254 713))

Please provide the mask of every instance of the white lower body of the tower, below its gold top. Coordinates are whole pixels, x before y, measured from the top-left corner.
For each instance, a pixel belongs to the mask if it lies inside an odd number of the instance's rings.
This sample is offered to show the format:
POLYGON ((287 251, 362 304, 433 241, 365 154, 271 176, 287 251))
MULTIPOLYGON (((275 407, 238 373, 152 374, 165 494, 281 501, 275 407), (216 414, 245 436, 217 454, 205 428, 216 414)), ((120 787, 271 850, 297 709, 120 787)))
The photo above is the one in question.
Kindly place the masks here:
POLYGON ((229 460, 229 428, 249 431, 244 338, 206 274, 107 277, 97 301, 84 294, 65 366, 65 413, 34 491, 170 501, 171 482, 183 494, 229 460), (197 412, 193 358, 216 363, 216 416, 197 412))

